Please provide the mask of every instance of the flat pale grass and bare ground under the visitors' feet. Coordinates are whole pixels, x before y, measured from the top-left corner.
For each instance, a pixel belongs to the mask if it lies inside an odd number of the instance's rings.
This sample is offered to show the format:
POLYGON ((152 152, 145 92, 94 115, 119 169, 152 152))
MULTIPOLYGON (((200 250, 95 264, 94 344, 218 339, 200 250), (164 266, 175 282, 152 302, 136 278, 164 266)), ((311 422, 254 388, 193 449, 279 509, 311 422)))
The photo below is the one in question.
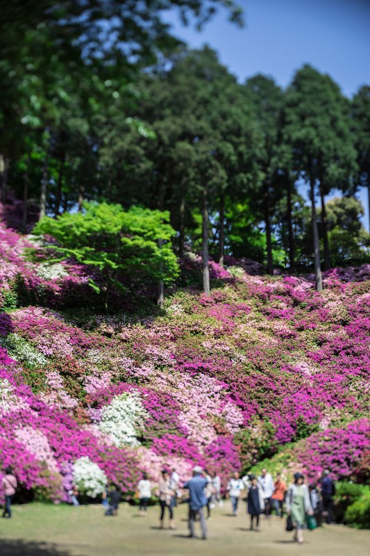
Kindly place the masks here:
POLYGON ((331 525, 305 532, 305 544, 275 516, 262 519, 261 532, 249 532, 244 504, 230 516, 229 502, 215 509, 208 521, 208 541, 187 539, 187 507, 176 509, 177 530, 158 529, 158 507, 140 518, 137 509, 122 504, 117 518, 103 516, 101 506, 68 507, 47 504, 15 506, 11 520, 0 520, 1 556, 367 556, 370 531, 331 525))

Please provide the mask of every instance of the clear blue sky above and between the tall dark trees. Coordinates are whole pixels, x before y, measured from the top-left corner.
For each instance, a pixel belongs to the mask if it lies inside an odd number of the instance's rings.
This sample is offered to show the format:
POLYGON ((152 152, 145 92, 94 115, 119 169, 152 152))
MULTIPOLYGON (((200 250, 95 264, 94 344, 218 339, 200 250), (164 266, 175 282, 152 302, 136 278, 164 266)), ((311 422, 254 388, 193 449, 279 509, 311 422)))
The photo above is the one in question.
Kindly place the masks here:
MULTIPOLYGON (((167 19, 190 44, 210 44, 239 81, 262 72, 286 86, 294 71, 310 63, 330 74, 351 97, 370 84, 370 0, 239 0, 246 25, 230 24, 223 11, 203 31, 167 19)), ((368 210, 365 191, 360 193, 368 210)), ((364 223, 369 228, 366 215, 364 223)))

